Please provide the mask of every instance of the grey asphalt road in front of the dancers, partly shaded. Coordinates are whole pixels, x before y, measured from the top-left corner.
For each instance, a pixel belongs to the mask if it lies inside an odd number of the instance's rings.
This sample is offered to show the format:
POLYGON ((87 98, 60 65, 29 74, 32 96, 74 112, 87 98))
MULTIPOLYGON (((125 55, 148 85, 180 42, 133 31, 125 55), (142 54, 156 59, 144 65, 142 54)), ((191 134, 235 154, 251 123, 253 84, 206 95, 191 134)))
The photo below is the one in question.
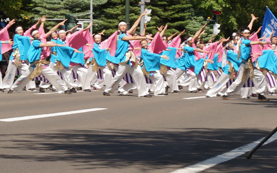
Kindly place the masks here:
MULTIPOLYGON (((170 173, 266 136, 277 126, 277 96, 202 98, 206 92, 137 97, 32 91, 0 93, 1 173, 170 173), (189 97, 201 97, 183 99, 189 97)), ((220 160, 220 159, 218 159, 220 160)), ((276 173, 277 141, 203 173, 276 173)), ((184 172, 186 173, 186 172, 184 172)))

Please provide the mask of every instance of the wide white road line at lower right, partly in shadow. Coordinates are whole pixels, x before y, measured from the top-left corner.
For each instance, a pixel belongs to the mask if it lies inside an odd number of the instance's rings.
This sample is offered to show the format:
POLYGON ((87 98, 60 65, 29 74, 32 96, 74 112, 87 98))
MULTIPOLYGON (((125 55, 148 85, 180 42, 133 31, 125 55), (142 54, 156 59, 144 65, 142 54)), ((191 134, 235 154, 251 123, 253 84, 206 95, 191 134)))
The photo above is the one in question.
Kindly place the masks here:
MULTIPOLYGON (((199 162, 197 164, 173 171, 171 173, 199 173, 201 171, 204 171, 208 168, 211 168, 215 165, 218 165, 222 162, 227 162, 233 158, 236 158, 250 150, 252 150, 260 141, 262 141, 264 138, 261 138, 255 142, 249 143, 247 145, 238 147, 234 150, 231 150, 230 152, 218 155, 216 157, 207 159, 203 162, 199 162)), ((271 136, 270 139, 268 139, 263 145, 266 145, 270 142, 273 142, 277 139, 277 133, 275 133, 274 135, 271 136)))

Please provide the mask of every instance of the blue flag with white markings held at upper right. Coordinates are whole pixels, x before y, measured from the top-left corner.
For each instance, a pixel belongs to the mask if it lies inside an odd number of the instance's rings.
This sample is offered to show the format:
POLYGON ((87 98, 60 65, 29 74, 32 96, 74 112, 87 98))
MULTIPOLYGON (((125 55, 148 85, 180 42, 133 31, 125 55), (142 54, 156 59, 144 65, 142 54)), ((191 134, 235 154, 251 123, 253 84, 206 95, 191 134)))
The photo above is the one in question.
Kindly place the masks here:
POLYGON ((263 21, 262 37, 268 34, 267 35, 267 38, 268 38, 272 32, 273 32, 273 36, 277 36, 277 19, 273 15, 271 10, 267 7, 267 11, 263 21))

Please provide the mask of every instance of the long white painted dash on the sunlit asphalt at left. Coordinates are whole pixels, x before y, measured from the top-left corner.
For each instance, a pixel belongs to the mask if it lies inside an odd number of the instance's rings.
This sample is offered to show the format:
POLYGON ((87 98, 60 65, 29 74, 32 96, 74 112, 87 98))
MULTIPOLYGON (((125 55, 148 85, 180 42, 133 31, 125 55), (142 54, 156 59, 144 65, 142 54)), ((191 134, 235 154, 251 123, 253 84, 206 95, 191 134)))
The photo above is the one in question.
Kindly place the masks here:
POLYGON ((59 112, 59 113, 53 113, 53 114, 42 114, 42 115, 32 115, 32 116, 25 116, 25 117, 6 118, 6 119, 0 119, 0 121, 13 122, 13 121, 36 119, 36 118, 54 117, 54 116, 60 116, 60 115, 79 114, 79 113, 84 113, 84 112, 92 112, 92 111, 99 111, 99 110, 105 110, 105 109, 106 108, 83 109, 83 110, 78 110, 78 111, 59 112))

